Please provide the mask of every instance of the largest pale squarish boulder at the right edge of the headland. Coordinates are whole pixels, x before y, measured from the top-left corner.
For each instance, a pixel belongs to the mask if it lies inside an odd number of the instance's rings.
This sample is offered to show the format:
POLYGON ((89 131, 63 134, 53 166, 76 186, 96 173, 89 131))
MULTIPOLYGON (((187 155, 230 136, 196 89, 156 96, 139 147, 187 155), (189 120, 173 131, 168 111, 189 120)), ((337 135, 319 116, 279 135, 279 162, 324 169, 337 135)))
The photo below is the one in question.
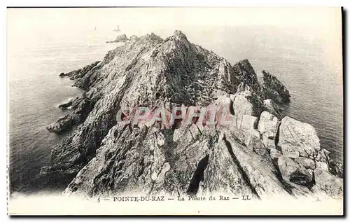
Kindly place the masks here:
POLYGON ((288 116, 281 120, 278 146, 283 155, 292 158, 315 158, 321 149, 315 128, 288 116))

